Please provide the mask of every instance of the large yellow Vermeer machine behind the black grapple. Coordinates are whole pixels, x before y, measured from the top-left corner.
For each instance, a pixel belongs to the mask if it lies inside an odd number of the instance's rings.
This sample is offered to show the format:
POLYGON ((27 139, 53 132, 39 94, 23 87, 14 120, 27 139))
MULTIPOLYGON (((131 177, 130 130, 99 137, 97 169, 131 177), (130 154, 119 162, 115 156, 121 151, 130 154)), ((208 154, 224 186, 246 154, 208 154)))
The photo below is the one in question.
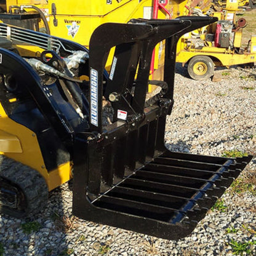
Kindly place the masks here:
MULTIPOLYGON (((171 4, 167 0, 97 0, 97 3, 95 0, 67 0, 65 4, 54 0, 7 0, 6 6, 2 6, 6 14, 0 14, 0 20, 89 47, 91 34, 103 23, 127 23, 132 18, 175 18, 186 15, 185 5, 184 0, 175 0, 171 4), (35 13, 40 14, 40 17, 35 18, 35 13), (32 16, 31 19, 23 18, 29 15, 32 16)), ((155 70, 158 69, 158 47, 154 54, 155 70)), ((112 49, 111 52, 113 51, 112 49)), ((110 55, 106 70, 110 70, 111 56, 113 54, 110 55)), ((153 73, 153 68, 151 70, 153 73)))

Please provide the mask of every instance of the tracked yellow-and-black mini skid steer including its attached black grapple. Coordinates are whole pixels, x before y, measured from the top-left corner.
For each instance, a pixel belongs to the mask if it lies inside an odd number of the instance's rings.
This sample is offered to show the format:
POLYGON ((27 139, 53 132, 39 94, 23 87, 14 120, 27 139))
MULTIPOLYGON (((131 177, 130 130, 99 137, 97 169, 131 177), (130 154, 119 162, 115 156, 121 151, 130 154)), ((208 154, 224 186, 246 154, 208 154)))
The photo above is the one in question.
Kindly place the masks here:
POLYGON ((79 44, 0 24, 0 206, 24 217, 73 175, 73 214, 159 238, 193 231, 251 157, 166 149, 175 52, 210 17, 105 23, 79 44), (165 40, 161 92, 146 100, 150 61, 165 40), (105 64, 115 47, 110 73, 105 64), (89 81, 78 78, 89 77, 89 81), (102 99, 110 102, 105 124, 102 99))

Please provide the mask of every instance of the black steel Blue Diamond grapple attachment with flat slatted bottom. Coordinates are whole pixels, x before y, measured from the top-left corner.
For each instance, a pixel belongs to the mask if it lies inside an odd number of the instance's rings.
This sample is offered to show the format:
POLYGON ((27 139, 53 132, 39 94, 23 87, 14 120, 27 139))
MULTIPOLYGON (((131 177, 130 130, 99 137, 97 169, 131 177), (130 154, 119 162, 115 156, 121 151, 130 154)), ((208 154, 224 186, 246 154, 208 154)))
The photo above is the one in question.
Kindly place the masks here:
POLYGON ((90 41, 90 132, 74 143, 73 213, 165 239, 190 234, 251 157, 218 158, 166 149, 173 101, 175 50, 182 34, 209 17, 104 24, 90 41), (146 102, 154 47, 165 40, 164 94, 146 102), (110 76, 103 70, 116 46, 110 76), (167 87, 166 87, 167 84, 167 87), (167 89, 166 89, 167 88, 167 89), (133 90, 132 90, 133 89, 133 90), (102 97, 114 109, 103 127, 102 97))

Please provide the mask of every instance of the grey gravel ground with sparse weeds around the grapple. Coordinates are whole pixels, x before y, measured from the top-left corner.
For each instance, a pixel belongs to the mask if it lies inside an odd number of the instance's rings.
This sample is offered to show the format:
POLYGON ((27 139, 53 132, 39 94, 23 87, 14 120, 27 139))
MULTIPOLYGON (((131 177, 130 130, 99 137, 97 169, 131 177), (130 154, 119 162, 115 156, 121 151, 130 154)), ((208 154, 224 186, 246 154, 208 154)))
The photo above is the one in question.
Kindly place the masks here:
MULTIPOLYGON (((238 150, 255 156, 256 70, 217 73, 220 82, 193 81, 178 66, 166 144, 174 151, 221 156, 238 150)), ((254 182, 248 190, 255 191, 256 158, 240 177, 254 182)), ((247 243, 242 255, 256 255, 255 199, 255 193, 229 188, 222 207, 209 210, 188 238, 167 241, 72 217, 72 193, 65 184, 50 193, 47 208, 33 219, 0 215, 0 255, 233 255, 232 241, 237 247, 247 243)))

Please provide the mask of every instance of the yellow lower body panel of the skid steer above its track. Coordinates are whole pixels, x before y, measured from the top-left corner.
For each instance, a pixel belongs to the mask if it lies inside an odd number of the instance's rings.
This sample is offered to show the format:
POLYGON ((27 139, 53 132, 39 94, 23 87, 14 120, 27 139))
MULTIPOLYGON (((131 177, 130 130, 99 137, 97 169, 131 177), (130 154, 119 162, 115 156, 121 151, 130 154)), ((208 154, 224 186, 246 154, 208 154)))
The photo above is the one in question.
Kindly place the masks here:
POLYGON ((57 169, 46 169, 36 134, 10 119, 0 103, 0 154, 38 170, 49 190, 70 180, 71 164, 66 162, 57 169))

